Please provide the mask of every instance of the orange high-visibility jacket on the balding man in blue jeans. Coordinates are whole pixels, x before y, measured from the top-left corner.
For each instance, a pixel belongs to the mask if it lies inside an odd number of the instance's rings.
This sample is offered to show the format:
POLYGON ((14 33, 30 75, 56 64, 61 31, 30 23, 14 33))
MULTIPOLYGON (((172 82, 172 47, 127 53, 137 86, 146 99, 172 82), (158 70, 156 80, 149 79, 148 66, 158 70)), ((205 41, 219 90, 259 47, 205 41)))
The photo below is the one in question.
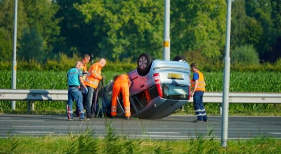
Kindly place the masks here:
POLYGON ((102 72, 101 64, 99 64, 98 62, 93 64, 90 67, 90 69, 88 71, 88 74, 86 76, 85 85, 93 87, 94 89, 96 89, 99 81, 103 79, 103 76, 101 75, 101 72, 102 72))

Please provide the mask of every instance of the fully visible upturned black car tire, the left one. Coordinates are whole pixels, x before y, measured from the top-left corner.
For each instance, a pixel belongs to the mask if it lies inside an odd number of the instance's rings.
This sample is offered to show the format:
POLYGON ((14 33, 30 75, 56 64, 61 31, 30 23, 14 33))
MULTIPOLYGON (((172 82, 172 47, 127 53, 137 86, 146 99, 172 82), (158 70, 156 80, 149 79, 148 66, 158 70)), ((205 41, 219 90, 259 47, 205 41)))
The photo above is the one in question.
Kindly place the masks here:
POLYGON ((145 76, 151 67, 152 57, 148 53, 142 53, 137 59, 137 71, 141 76, 145 76))

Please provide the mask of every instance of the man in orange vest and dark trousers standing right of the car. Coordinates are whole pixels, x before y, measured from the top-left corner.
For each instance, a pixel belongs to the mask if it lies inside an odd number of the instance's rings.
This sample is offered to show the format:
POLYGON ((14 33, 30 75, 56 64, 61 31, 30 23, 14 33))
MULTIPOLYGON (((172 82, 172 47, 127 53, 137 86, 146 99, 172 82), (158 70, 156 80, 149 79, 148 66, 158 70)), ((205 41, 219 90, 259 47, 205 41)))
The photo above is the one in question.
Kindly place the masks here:
POLYGON ((204 75, 197 69, 197 64, 192 63, 190 65, 193 72, 193 77, 191 80, 192 92, 191 97, 193 97, 193 107, 197 119, 194 120, 194 123, 204 123, 208 121, 206 110, 203 104, 203 94, 205 92, 205 80, 204 75))

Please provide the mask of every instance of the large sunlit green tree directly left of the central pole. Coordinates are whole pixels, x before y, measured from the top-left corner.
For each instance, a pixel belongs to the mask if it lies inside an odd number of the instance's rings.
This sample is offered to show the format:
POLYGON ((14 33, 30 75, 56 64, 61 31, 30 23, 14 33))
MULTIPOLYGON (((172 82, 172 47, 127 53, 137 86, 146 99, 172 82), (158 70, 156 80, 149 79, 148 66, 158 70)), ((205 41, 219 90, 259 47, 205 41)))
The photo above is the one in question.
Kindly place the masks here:
POLYGON ((142 52, 162 56, 164 1, 83 1, 76 8, 94 22, 98 55, 111 60, 137 59, 142 52))

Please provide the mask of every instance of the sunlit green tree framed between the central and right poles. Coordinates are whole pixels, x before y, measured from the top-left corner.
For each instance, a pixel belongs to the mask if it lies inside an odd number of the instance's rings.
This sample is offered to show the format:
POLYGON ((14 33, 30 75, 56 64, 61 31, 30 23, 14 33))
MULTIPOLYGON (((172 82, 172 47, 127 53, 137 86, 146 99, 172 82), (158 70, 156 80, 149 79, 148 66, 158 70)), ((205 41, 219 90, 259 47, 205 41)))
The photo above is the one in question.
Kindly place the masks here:
POLYGON ((226 2, 178 0, 171 2, 171 52, 202 52, 213 59, 225 44, 226 2))

